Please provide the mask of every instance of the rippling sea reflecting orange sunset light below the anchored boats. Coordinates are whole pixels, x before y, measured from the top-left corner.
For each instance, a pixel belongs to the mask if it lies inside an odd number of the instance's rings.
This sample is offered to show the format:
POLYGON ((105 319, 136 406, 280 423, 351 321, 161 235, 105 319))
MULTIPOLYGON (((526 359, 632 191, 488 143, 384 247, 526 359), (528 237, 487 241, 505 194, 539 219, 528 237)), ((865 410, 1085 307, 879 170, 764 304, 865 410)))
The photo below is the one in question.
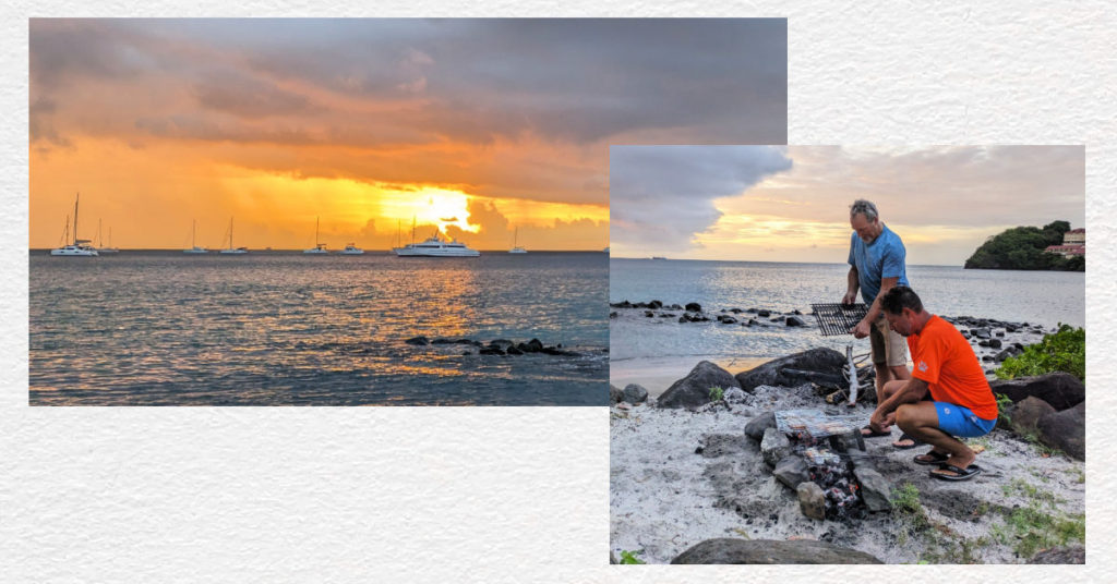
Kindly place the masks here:
POLYGON ((608 256, 30 257, 32 405, 600 405, 608 256), (538 338, 581 356, 407 338, 538 338), (471 355, 462 355, 469 351, 471 355))

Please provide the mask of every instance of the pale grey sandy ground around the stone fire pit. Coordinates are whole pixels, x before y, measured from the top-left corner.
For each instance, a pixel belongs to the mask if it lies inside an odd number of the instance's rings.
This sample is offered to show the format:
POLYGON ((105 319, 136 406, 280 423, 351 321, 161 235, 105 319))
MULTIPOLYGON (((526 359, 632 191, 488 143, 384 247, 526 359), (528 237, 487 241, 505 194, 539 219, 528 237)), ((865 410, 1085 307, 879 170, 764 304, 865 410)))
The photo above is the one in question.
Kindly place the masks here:
MULTIPOLYGON (((731 370, 734 373, 736 371, 731 370)), ((650 389, 650 387, 649 387, 650 389)), ((624 404, 627 405, 627 404, 624 404)), ((1052 514, 1085 513, 1085 463, 1061 456, 1044 458, 1037 447, 994 430, 971 440, 985 447, 984 472, 970 481, 930 478, 929 467, 911 457, 927 450, 897 450, 886 438, 867 440, 868 458, 894 487, 913 484, 934 533, 914 533, 896 514, 872 514, 850 521, 814 520, 799 509, 794 492, 775 480, 758 446, 744 435, 745 423, 776 408, 833 409, 810 386, 758 387, 746 402, 697 412, 649 405, 613 406, 610 423, 611 549, 639 551, 648 563, 668 563, 688 547, 715 537, 812 538, 872 554, 886 563, 1021 563, 1013 542, 991 534, 1004 515, 1037 496, 1050 499, 1052 514), (696 449, 703 447, 703 453, 696 449), (1028 494, 1027 491, 1031 491, 1028 494), (1039 494, 1039 495, 1037 495, 1039 494), (1049 495, 1046 495, 1049 494, 1049 495)), ((844 406, 832 413, 859 413, 844 406)), ((899 430, 892 430, 899 435, 899 430)), ((1044 507, 1048 509, 1048 507, 1044 507)))

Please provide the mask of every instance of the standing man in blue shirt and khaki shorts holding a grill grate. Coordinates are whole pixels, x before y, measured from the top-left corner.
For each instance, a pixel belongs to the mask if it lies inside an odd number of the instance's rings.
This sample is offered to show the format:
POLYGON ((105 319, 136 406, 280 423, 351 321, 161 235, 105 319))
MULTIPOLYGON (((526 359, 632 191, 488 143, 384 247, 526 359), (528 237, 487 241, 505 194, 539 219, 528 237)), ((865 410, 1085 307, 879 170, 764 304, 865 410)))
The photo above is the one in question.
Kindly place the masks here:
MULTIPOLYGON (((905 249, 900 237, 880 220, 877 205, 865 199, 853 201, 849 208, 849 224, 853 233, 849 239, 849 275, 842 304, 857 301, 857 290, 869 306, 865 318, 850 329, 856 338, 869 337, 872 366, 877 373, 877 401, 882 400, 885 384, 889 381, 911 379, 907 368, 907 345, 904 337, 888 328, 880 309, 880 299, 895 286, 908 286, 904 267, 905 249)), ((878 435, 868 432, 866 435, 878 435)), ((916 441, 901 435, 892 442, 897 448, 913 448, 916 441)))

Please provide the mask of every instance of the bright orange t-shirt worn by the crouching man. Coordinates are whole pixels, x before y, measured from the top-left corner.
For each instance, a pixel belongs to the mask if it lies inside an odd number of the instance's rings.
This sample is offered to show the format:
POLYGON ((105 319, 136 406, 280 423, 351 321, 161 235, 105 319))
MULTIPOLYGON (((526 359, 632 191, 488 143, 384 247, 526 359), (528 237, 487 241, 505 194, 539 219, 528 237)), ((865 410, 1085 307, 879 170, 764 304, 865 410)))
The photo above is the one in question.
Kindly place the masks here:
POLYGON ((996 398, 977 355, 957 328, 932 315, 918 335, 908 336, 911 376, 927 382, 930 398, 968 408, 977 418, 996 418, 996 398))

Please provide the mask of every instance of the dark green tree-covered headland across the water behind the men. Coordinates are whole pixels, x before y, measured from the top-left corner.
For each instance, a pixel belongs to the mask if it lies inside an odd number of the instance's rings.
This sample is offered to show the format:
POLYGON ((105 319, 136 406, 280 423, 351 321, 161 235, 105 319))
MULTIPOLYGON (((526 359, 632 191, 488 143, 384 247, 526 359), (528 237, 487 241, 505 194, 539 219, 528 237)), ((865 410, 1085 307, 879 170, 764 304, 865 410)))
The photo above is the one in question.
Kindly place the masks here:
POLYGON ((1014 227, 993 236, 970 259, 966 269, 1002 270, 1062 270, 1085 271, 1086 258, 1063 258, 1058 253, 1043 251, 1048 246, 1062 243, 1062 234, 1070 231, 1067 221, 1052 221, 1038 227, 1014 227))

